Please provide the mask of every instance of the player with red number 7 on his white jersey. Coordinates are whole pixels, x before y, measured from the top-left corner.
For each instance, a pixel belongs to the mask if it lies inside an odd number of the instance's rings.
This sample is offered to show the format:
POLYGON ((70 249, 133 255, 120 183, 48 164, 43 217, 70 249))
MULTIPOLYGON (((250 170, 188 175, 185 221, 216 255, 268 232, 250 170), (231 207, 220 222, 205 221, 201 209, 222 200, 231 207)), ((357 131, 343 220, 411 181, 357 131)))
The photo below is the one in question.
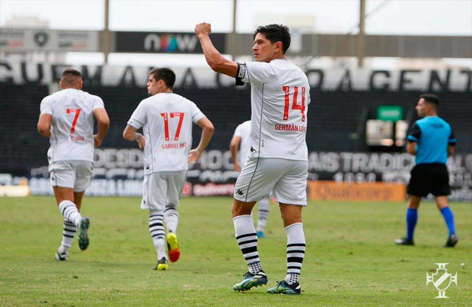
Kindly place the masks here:
POLYGON ((62 91, 41 101, 38 131, 49 139, 49 172, 60 213, 64 216, 62 242, 56 260, 67 260, 77 231, 79 248, 89 245, 90 220, 79 213, 93 170, 93 147, 99 147, 110 127, 100 97, 82 91, 82 75, 68 68, 61 76, 62 91), (93 117, 97 134, 93 134, 93 117))

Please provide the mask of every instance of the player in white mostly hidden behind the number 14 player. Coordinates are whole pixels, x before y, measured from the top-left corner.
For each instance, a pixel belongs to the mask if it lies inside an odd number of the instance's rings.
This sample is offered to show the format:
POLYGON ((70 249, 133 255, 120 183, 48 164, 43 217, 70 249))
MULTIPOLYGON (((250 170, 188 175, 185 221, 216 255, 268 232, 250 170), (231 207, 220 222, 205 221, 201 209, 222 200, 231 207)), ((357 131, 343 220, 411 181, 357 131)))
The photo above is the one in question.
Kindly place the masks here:
MULTIPOLYGON (((233 168, 236 172, 241 172, 241 166, 247 161, 249 149, 251 148, 250 141, 251 121, 246 120, 244 123, 236 127, 233 138, 229 143, 229 150, 233 158, 233 168), (238 153, 239 149, 239 153, 238 153)), ((256 234, 258 238, 264 237, 264 229, 267 225, 267 218, 269 216, 269 197, 265 197, 258 201, 257 207, 257 226, 256 234)))

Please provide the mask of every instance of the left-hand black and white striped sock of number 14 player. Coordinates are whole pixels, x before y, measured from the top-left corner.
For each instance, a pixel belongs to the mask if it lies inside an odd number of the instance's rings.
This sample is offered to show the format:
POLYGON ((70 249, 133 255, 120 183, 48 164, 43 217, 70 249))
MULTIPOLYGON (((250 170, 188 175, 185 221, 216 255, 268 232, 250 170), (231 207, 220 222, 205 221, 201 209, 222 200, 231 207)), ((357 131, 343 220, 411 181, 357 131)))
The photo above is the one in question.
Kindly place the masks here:
POLYGON ((233 224, 236 241, 249 267, 249 272, 256 274, 262 270, 262 266, 259 253, 257 252, 257 234, 253 218, 250 215, 236 216, 233 218, 233 224))

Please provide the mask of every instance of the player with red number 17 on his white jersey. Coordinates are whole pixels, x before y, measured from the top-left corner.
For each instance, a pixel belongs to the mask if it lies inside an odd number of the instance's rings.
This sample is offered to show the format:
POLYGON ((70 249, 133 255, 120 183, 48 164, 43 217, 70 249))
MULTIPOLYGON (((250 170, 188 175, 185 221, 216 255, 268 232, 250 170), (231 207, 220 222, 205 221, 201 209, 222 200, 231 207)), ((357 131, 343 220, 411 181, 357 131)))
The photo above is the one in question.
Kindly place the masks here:
POLYGON ((213 124, 194 102, 172 92, 176 76, 169 68, 149 72, 147 90, 151 97, 142 100, 126 125, 123 137, 144 149, 144 184, 141 209, 149 209, 149 232, 157 252, 154 269, 167 270, 168 260, 180 257, 177 244, 179 197, 188 170, 213 135, 213 124), (202 127, 200 143, 192 146, 192 124, 202 127), (143 134, 136 130, 143 127, 143 134), (169 259, 165 251, 167 246, 169 259))

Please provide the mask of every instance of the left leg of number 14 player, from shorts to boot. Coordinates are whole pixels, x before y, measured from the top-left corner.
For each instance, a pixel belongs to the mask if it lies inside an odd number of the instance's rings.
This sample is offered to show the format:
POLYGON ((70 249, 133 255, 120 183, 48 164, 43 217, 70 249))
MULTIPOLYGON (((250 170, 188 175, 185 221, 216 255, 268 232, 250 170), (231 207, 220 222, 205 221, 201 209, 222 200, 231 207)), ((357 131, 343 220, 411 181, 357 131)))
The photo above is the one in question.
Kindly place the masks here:
POLYGON ((267 283, 267 276, 262 270, 257 251, 257 234, 251 212, 255 202, 269 195, 280 178, 280 173, 285 171, 283 165, 271 160, 250 158, 236 180, 232 207, 233 225, 236 241, 248 266, 243 281, 233 286, 237 291, 249 290, 267 283))

